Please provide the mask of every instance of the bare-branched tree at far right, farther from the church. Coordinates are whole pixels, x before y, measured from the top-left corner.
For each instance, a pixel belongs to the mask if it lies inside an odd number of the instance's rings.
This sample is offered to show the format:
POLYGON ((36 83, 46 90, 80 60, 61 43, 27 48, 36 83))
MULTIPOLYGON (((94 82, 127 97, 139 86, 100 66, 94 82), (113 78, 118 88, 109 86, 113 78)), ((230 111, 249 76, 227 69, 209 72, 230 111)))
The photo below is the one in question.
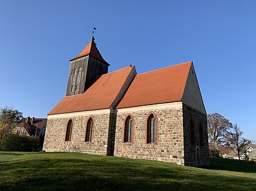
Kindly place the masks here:
POLYGON ((244 159, 248 158, 247 156, 247 147, 252 142, 249 139, 242 137, 244 134, 243 131, 240 131, 240 128, 237 124, 234 125, 232 131, 227 132, 225 146, 229 146, 235 154, 241 159, 241 156, 244 154, 244 159))

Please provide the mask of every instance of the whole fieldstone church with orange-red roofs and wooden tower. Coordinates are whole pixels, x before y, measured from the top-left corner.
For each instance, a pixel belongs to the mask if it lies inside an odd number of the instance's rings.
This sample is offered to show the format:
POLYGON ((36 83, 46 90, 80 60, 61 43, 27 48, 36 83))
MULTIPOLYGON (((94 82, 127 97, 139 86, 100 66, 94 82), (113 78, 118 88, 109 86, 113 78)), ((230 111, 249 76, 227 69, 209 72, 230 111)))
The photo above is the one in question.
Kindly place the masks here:
POLYGON ((94 40, 70 60, 66 96, 48 113, 43 149, 209 165, 207 114, 193 62, 108 73, 94 40))

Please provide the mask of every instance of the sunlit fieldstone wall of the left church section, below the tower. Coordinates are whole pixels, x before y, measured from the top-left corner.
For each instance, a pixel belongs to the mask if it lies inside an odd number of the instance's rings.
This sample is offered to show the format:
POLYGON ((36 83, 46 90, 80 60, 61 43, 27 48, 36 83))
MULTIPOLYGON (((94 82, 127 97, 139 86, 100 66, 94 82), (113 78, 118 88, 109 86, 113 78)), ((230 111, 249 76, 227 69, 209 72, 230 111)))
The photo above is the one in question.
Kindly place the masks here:
POLYGON ((110 109, 82 111, 48 116, 43 150, 84 152, 107 155, 110 109), (93 119, 92 141, 85 142, 87 120, 93 119), (71 141, 65 141, 68 121, 72 119, 71 141))

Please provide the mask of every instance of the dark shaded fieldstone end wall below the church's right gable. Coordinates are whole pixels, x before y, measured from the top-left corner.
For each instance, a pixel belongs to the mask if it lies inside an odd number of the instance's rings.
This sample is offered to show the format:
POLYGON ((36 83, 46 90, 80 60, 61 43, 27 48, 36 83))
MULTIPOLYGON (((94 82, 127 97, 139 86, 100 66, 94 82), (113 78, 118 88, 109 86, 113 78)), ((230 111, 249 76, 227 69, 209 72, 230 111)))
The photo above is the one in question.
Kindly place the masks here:
POLYGON ((184 153, 185 165, 209 165, 209 145, 207 133, 207 116, 183 104, 184 153), (194 123, 195 144, 190 142, 190 119, 194 123), (203 144, 200 145, 199 124, 203 127, 203 144), (197 149, 198 152, 197 152, 197 149), (197 156, 198 155, 198 156, 197 156))

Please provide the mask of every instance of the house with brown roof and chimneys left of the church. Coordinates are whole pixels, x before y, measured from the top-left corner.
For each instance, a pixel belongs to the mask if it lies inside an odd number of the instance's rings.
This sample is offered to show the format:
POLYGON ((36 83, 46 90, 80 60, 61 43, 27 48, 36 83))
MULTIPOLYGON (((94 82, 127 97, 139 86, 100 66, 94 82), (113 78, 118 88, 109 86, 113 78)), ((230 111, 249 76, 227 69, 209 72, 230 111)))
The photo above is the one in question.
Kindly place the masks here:
POLYGON ((12 132, 19 135, 44 137, 46 123, 46 118, 22 118, 12 132))

